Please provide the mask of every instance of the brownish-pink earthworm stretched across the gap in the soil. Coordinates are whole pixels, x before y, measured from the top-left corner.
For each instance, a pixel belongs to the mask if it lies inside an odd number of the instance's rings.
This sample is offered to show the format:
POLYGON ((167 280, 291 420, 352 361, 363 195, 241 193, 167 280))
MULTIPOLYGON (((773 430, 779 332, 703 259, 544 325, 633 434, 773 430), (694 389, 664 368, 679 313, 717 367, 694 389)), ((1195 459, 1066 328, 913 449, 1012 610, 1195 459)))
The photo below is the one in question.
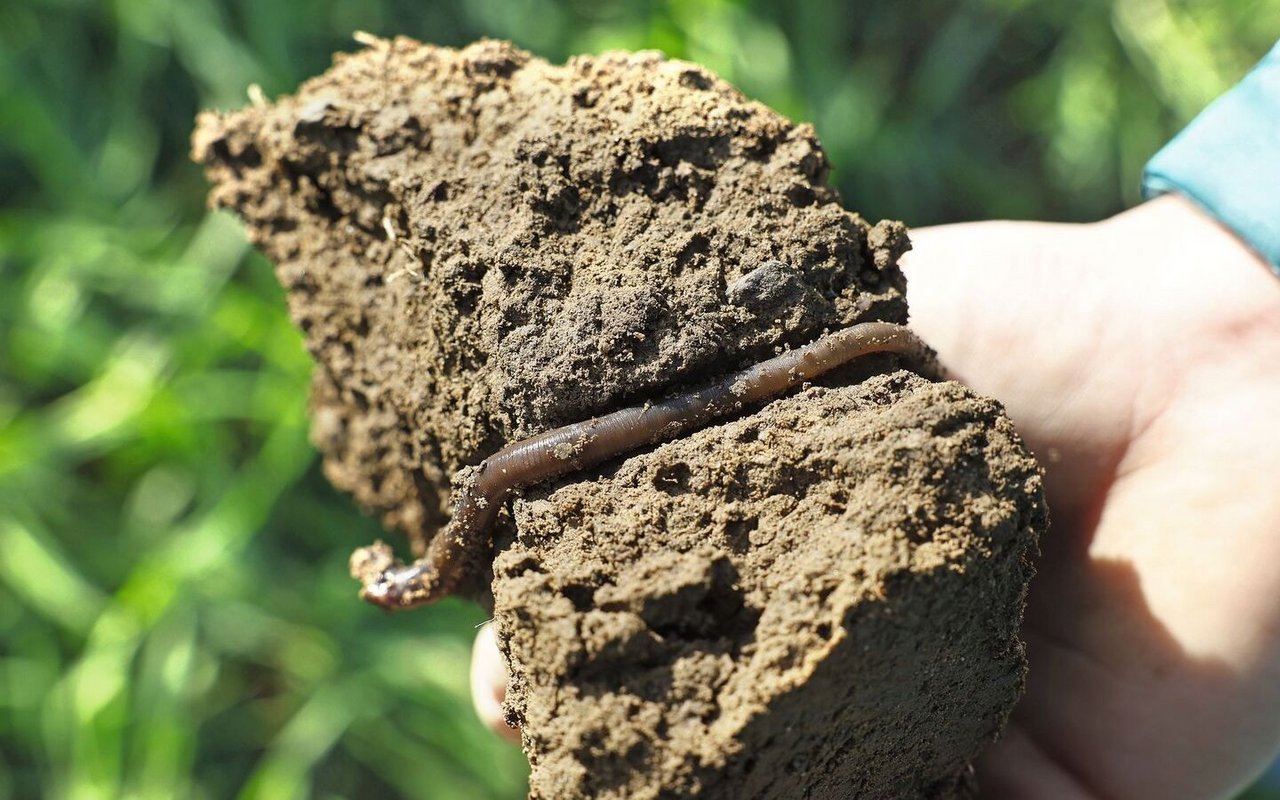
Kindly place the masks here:
POLYGON ((556 428, 502 448, 456 492, 453 515, 412 564, 397 562, 378 543, 352 554, 352 573, 364 582, 361 596, 384 608, 433 603, 457 589, 466 561, 493 525, 513 489, 585 470, 672 439, 744 406, 782 394, 797 384, 859 356, 888 352, 908 357, 915 369, 936 369, 933 351, 910 329, 892 323, 861 323, 735 372, 701 389, 664 401, 623 408, 556 428))

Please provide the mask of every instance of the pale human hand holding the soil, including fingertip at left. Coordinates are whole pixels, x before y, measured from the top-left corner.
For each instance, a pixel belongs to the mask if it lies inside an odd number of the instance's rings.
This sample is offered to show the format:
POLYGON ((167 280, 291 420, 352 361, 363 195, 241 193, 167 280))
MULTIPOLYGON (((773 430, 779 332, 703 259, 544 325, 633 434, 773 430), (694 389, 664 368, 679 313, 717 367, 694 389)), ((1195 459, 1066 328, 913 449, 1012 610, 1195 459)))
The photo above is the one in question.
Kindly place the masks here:
MULTIPOLYGON (((1280 737, 1280 284, 1175 197, 913 241, 913 326, 1048 470, 1028 694, 987 796, 1228 794, 1280 737)), ((476 708, 509 733, 504 682, 483 631, 476 708)))

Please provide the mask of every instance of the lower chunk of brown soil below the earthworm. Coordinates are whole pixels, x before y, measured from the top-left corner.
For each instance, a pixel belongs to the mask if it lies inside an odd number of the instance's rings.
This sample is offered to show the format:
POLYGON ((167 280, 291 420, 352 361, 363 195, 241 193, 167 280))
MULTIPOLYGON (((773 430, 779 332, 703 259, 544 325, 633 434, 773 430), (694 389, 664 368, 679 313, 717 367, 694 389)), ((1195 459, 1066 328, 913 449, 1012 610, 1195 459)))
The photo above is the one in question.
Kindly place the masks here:
POLYGON ((540 797, 957 797, 1046 522, 991 399, 810 388, 515 504, 498 634, 540 797))

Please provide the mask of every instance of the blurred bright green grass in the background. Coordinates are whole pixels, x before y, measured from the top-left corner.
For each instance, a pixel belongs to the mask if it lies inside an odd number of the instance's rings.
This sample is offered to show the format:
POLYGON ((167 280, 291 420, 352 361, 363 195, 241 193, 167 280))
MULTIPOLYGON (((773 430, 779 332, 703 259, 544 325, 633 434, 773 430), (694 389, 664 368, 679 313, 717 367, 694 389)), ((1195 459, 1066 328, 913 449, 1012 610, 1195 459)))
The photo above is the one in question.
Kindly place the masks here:
POLYGON ((483 612, 356 602, 378 525, 320 476, 270 266, 187 161, 198 109, 292 91, 355 29, 658 47, 813 122, 870 218, 1087 220, 1280 0, 6 0, 0 799, 524 792, 470 712, 483 612))

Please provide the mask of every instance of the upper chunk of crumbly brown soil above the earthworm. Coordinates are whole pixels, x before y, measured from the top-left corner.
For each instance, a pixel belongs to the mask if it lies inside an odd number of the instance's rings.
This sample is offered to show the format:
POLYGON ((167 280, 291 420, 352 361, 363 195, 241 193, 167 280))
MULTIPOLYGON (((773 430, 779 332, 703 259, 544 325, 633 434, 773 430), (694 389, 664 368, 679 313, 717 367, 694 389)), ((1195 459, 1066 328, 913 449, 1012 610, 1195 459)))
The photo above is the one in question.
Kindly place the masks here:
POLYGON ((420 544, 506 442, 906 319, 901 227, 840 207, 812 128, 655 52, 396 40, 193 151, 307 334, 330 480, 420 544))

